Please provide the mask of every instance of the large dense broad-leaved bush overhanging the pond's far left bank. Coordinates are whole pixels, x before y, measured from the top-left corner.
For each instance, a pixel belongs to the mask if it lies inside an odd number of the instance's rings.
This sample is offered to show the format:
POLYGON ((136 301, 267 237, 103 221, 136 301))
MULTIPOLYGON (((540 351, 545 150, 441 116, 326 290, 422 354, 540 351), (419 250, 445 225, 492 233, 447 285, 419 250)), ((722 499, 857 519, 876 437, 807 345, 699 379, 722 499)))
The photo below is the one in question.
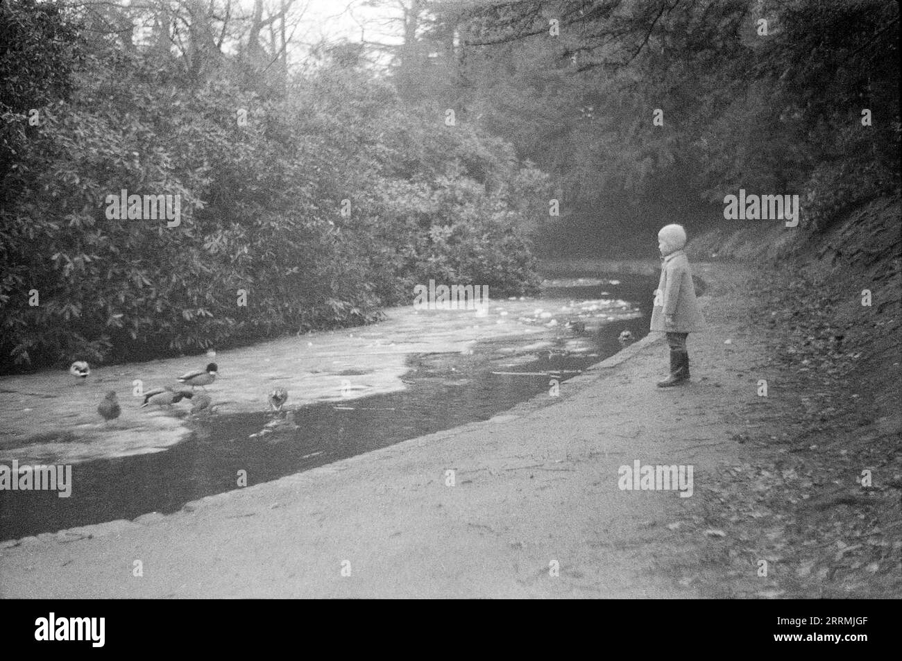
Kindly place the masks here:
POLYGON ((138 53, 72 49, 47 55, 71 74, 66 94, 32 94, 37 126, 4 81, 5 369, 364 324, 430 278, 535 288, 520 225, 541 173, 473 126, 402 106, 353 63, 264 98, 226 76, 188 84, 138 53), (179 195, 181 224, 108 219, 121 189, 179 195))

